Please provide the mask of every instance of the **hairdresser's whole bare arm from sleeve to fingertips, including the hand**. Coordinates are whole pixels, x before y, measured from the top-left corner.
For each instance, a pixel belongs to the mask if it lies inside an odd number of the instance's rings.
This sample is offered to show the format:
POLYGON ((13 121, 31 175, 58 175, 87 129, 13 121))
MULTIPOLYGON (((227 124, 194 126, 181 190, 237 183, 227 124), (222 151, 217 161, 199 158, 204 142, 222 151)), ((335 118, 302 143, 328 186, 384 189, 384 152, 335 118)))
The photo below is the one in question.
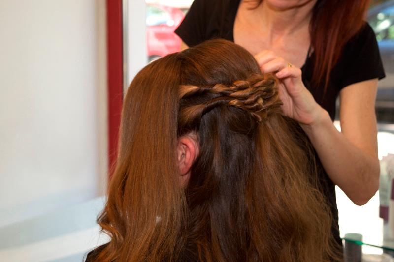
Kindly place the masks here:
POLYGON ((358 205, 379 187, 375 97, 377 79, 344 87, 340 92, 342 132, 306 89, 301 70, 271 51, 255 58, 262 72, 277 72, 284 115, 298 121, 310 138, 331 180, 358 205))

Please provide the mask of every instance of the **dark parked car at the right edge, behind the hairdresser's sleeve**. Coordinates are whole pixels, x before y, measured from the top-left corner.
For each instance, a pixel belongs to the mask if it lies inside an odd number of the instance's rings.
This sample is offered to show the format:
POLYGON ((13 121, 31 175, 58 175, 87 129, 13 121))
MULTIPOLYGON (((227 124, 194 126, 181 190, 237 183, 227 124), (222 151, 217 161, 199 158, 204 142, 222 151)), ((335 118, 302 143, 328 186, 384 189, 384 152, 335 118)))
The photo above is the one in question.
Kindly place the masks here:
POLYGON ((394 0, 371 8, 368 22, 375 31, 386 78, 379 81, 376 115, 379 122, 394 123, 394 0))

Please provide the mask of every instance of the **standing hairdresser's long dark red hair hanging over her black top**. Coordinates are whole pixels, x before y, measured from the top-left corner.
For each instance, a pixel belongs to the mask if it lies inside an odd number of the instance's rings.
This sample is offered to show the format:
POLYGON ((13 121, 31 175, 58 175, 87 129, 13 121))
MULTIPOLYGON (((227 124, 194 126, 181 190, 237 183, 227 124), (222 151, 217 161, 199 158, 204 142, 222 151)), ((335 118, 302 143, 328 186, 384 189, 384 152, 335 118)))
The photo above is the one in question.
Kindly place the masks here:
MULTIPOLYGON (((263 0, 258 0, 259 5, 263 0)), ((346 43, 365 24, 370 0, 317 0, 309 24, 314 49, 312 85, 328 86, 331 69, 346 43)))

